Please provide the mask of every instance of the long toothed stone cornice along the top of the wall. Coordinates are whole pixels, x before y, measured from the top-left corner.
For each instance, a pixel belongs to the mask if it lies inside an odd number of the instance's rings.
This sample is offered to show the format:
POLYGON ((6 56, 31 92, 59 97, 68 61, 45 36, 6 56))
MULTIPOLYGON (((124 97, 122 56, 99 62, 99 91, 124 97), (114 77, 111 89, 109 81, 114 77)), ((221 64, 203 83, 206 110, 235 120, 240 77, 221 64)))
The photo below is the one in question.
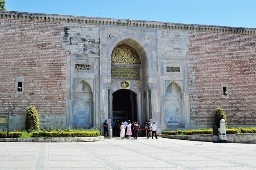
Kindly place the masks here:
POLYGON ((157 21, 143 21, 143 20, 129 21, 128 19, 67 16, 67 15, 57 15, 57 14, 26 13, 26 12, 16 12, 16 11, 0 11, 0 19, 16 19, 16 20, 32 20, 32 21, 42 21, 42 22, 47 21, 47 22, 61 22, 61 23, 77 23, 77 24, 87 24, 87 25, 112 25, 112 26, 126 26, 126 27, 159 28, 159 29, 171 29, 171 30, 207 31, 207 32, 217 32, 217 33, 229 33, 229 34, 256 35, 256 28, 180 24, 180 23, 173 23, 173 22, 157 22, 157 21))

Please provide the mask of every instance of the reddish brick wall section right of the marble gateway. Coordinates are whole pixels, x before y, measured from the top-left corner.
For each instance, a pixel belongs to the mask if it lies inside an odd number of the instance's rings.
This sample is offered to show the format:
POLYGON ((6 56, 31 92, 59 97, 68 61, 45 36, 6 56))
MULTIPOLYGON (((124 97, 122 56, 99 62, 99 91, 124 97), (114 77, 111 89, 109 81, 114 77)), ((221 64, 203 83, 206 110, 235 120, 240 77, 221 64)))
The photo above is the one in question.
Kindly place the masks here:
POLYGON ((193 31, 187 56, 191 125, 212 125, 216 107, 228 125, 255 125, 256 36, 193 31))

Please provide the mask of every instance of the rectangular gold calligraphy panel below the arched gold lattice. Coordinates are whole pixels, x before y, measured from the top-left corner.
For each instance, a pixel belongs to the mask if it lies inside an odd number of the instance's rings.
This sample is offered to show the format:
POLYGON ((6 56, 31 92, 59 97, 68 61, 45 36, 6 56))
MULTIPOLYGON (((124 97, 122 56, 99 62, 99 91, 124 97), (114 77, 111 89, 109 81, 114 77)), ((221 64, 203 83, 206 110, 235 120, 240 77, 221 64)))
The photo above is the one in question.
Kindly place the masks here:
POLYGON ((137 67, 111 67, 112 78, 139 79, 137 67))

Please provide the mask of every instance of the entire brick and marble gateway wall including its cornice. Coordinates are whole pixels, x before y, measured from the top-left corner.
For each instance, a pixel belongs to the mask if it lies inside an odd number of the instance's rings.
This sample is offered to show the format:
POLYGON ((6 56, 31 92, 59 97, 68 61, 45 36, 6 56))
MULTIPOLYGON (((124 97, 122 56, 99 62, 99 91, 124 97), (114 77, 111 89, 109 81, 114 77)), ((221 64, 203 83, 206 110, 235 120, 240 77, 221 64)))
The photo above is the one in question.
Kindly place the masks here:
MULTIPOLYGON (((256 29, 0 11, 0 113, 24 129, 256 125, 256 29)), ((115 132, 115 130, 113 130, 115 132)))

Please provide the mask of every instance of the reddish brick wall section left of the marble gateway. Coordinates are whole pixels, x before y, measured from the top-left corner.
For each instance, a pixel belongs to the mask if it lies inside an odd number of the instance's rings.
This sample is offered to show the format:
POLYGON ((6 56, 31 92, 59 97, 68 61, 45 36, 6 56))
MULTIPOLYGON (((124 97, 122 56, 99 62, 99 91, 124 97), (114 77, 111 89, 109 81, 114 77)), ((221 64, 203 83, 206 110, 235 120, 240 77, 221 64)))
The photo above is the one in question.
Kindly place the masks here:
POLYGON ((66 115, 66 53, 59 22, 0 19, 0 112, 66 115), (17 94, 16 78, 24 78, 17 94))

